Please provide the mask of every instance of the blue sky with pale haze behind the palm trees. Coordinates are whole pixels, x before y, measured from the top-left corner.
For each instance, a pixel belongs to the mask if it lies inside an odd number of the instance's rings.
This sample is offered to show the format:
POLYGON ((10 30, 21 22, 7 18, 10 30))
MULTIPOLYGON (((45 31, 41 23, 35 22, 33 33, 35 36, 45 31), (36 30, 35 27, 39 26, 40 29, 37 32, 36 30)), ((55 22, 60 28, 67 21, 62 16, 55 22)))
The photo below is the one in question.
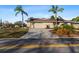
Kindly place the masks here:
MULTIPOLYGON (((34 18, 50 18, 53 15, 52 12, 48 12, 51 5, 22 5, 24 11, 28 13, 28 17, 24 15, 24 20, 29 17, 34 18)), ((79 16, 79 5, 59 5, 60 8, 64 8, 63 12, 59 12, 58 16, 63 17, 65 20, 71 20, 74 17, 79 16)), ((21 21, 21 15, 15 16, 14 9, 16 5, 0 5, 0 19, 2 21, 16 22, 21 21)))

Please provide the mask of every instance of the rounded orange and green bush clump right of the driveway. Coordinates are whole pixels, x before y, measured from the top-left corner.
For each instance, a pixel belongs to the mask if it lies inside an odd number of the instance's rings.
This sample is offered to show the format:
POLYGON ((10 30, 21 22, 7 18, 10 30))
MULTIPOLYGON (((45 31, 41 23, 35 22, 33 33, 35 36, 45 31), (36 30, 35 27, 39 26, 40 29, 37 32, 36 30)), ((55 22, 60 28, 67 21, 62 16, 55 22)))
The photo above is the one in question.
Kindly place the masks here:
POLYGON ((70 36, 71 34, 75 33, 75 30, 72 25, 62 24, 59 27, 54 27, 52 32, 59 36, 70 36))

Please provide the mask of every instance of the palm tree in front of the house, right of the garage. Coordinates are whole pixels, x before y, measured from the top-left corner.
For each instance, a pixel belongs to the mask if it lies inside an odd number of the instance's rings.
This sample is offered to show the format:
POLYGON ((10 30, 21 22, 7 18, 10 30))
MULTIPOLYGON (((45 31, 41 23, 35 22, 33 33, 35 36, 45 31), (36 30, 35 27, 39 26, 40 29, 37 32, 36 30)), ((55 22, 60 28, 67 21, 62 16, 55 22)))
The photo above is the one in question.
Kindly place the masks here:
POLYGON ((59 8, 57 5, 52 5, 52 8, 49 9, 49 12, 53 12, 54 14, 54 18, 56 20, 56 26, 57 26, 57 13, 62 12, 63 10, 64 10, 63 8, 59 8))

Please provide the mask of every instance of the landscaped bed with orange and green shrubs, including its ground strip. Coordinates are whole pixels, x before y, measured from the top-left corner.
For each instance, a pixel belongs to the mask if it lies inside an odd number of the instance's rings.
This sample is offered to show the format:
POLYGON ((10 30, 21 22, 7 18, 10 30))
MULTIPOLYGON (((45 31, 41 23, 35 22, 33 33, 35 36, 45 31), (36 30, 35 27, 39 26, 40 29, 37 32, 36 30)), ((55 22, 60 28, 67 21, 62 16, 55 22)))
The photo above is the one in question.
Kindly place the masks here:
POLYGON ((50 32, 53 35, 58 35, 59 37, 79 37, 79 30, 76 30, 73 26, 64 24, 60 27, 55 27, 50 32))

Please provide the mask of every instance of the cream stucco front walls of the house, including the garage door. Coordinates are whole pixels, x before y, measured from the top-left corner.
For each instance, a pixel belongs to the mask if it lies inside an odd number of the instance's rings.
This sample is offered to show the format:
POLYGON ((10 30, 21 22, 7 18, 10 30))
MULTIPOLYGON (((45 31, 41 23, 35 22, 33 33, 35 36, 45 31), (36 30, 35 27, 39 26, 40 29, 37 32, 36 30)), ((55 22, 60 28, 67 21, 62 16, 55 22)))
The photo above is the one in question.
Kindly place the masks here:
MULTIPOLYGON (((60 23, 58 26, 60 26, 61 24, 63 23, 60 23)), ((68 25, 71 25, 70 23, 67 23, 68 25)), ((53 28, 54 27, 54 24, 53 23, 35 23, 34 24, 34 28, 46 28, 47 25, 49 26, 49 28, 53 28)), ((30 28, 33 28, 33 24, 28 22, 27 23, 27 26, 30 27, 30 28)), ((73 26, 75 28, 79 28, 79 24, 73 24, 73 26)))

